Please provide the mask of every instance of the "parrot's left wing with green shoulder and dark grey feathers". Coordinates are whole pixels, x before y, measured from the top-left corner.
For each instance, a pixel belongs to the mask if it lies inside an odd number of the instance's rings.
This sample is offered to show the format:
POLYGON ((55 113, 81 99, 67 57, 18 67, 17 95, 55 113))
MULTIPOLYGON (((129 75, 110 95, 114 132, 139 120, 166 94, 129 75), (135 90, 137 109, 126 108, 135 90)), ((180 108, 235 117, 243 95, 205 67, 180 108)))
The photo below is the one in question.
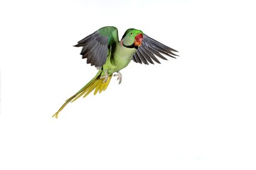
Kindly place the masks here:
POLYGON ((107 61, 110 48, 117 42, 117 28, 107 26, 78 41, 78 44, 74 46, 82 47, 80 55, 82 55, 82 59, 87 58, 87 64, 102 67, 107 61))

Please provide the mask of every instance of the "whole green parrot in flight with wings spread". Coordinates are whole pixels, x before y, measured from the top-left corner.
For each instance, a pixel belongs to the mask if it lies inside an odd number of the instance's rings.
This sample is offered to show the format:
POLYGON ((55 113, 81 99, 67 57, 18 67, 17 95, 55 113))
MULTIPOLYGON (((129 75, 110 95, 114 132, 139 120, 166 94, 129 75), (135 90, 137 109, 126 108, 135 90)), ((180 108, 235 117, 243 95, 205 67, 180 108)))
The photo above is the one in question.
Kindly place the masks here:
POLYGON ((85 98, 93 90, 95 90, 94 95, 105 91, 115 72, 117 74, 114 76, 117 76, 120 84, 122 74, 119 71, 127 67, 132 60, 140 64, 154 64, 154 62, 160 64, 156 56, 163 60, 167 59, 161 54, 169 57, 178 56, 174 54, 178 51, 150 38, 142 30, 129 28, 119 41, 117 28, 114 26, 100 28, 74 46, 82 47, 80 52, 82 59, 87 58, 87 64, 94 65, 99 71, 80 91, 65 101, 58 112, 53 115, 55 118, 58 118, 58 114, 68 103, 77 100, 80 96, 85 98))

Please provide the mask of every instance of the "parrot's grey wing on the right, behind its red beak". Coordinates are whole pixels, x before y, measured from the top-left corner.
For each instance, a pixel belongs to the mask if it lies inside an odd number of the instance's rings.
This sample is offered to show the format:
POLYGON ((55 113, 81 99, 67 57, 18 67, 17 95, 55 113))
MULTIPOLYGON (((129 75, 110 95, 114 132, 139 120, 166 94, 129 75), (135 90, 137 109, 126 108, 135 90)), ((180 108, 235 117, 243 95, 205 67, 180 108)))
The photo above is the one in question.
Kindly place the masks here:
POLYGON ((161 42, 150 38, 148 35, 143 35, 142 45, 139 46, 137 52, 132 57, 134 62, 139 62, 140 64, 154 64, 153 60, 160 64, 159 60, 156 58, 160 57, 163 60, 167 60, 163 55, 168 55, 169 57, 178 56, 174 54, 174 52, 178 52, 171 47, 168 47, 161 42))

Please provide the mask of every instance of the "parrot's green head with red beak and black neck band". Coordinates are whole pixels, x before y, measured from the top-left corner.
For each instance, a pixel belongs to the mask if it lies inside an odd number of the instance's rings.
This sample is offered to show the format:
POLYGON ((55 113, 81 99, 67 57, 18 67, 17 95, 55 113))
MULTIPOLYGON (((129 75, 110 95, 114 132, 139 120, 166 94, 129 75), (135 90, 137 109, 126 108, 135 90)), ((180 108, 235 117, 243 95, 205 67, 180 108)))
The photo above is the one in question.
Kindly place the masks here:
POLYGON ((130 28, 125 31, 122 36, 121 44, 124 47, 136 48, 142 45, 143 32, 141 30, 136 30, 134 28, 130 28))

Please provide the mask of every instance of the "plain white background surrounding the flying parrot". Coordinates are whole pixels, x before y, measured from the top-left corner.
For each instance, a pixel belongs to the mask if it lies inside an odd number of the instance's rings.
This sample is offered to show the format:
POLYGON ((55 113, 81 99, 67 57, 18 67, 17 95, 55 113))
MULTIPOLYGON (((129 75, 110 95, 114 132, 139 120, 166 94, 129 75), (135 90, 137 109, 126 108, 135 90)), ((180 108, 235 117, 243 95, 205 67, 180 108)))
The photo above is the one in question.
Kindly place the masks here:
POLYGON ((256 1, 1 1, 0 169, 256 169, 256 1), (137 28, 178 50, 95 76, 78 40, 137 28))

